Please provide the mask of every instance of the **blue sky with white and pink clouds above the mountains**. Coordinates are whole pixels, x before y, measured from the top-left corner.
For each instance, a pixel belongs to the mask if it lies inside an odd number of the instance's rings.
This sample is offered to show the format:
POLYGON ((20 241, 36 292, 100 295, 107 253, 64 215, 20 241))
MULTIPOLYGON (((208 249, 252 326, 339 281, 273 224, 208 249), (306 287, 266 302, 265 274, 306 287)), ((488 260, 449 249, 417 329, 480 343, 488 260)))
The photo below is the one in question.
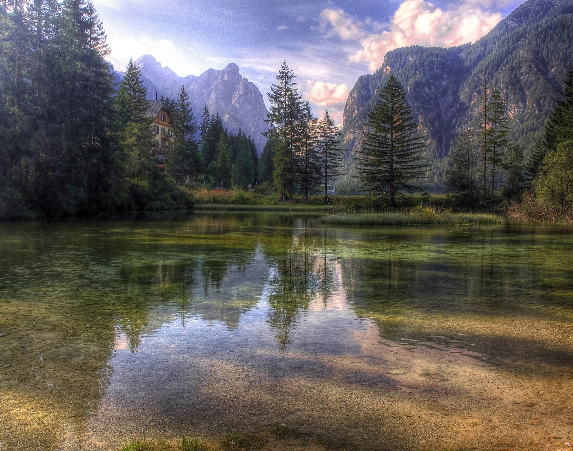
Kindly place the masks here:
MULTIPOLYGON (((151 54, 179 76, 241 68, 265 96, 283 60, 315 115, 337 123, 386 52, 477 41, 521 0, 92 0, 116 70, 151 54)), ((268 105, 268 101, 267 101, 268 105)))

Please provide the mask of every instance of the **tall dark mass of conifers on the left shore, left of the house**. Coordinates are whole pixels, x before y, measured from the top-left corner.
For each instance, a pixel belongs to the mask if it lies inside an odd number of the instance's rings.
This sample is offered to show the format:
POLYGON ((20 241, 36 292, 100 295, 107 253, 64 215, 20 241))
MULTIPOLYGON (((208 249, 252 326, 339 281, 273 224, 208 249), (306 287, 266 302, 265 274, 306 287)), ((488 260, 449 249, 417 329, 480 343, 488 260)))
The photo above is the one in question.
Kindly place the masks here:
POLYGON ((134 70, 115 96, 108 52, 91 2, 0 4, 0 218, 191 205, 151 158, 134 70))

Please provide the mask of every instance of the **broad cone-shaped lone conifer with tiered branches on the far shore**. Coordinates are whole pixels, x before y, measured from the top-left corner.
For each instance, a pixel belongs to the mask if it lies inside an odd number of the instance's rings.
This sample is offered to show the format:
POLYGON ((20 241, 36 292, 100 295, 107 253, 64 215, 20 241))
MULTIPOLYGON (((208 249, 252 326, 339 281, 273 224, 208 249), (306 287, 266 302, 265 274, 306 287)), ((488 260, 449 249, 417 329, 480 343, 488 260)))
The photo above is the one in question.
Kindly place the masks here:
POLYGON ((385 197, 391 206, 402 191, 422 190, 414 185, 426 171, 422 154, 425 143, 406 104, 406 92, 391 75, 380 90, 379 99, 364 124, 362 149, 358 152, 358 170, 363 190, 385 197))

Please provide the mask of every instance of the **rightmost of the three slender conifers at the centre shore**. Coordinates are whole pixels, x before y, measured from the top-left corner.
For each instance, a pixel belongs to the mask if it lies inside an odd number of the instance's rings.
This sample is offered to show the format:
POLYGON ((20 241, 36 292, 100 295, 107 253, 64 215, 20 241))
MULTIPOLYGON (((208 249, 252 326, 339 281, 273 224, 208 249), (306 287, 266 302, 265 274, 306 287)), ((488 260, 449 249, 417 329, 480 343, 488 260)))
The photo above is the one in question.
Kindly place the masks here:
POLYGON ((340 127, 336 127, 328 114, 319 121, 317 130, 317 150, 320 156, 320 174, 324 182, 324 199, 328 202, 328 182, 333 183, 342 175, 343 154, 346 149, 340 147, 340 127))

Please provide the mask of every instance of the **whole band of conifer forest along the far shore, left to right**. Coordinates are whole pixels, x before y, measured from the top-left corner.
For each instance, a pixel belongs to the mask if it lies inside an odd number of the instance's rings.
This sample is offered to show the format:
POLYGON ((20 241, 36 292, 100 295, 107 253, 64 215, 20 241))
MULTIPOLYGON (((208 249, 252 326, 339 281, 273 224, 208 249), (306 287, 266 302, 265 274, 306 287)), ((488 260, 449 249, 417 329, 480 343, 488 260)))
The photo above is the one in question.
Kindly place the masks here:
POLYGON ((362 146, 345 162, 340 127, 328 111, 321 119, 313 115, 285 61, 270 87, 268 142, 260 156, 253 138, 229 132, 218 113, 205 107, 196 119, 182 87, 176 99, 160 99, 172 112, 173 131, 160 170, 140 71, 129 62, 114 85, 91 2, 5 1, 0 48, 3 219, 189 209, 215 187, 329 203, 328 187, 348 172, 350 160, 356 186, 379 207, 425 193, 431 173, 445 181, 446 201, 458 209, 544 219, 572 213, 571 71, 527 161, 510 139, 505 93, 484 80, 480 123, 461 132, 437 167, 402 84, 391 76, 363 124, 362 146))

